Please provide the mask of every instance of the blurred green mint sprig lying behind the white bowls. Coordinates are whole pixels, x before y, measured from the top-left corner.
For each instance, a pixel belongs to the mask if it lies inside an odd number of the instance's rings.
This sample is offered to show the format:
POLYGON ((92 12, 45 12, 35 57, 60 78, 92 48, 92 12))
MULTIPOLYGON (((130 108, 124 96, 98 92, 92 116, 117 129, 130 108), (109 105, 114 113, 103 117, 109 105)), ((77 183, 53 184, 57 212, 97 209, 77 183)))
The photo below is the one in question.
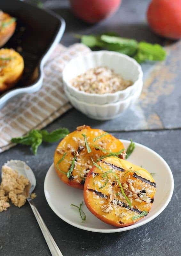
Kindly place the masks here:
POLYGON ((166 57, 166 52, 159 44, 138 42, 117 36, 115 33, 104 33, 102 35, 79 35, 81 42, 90 48, 102 48, 109 51, 124 53, 139 63, 144 61, 161 61, 166 57))

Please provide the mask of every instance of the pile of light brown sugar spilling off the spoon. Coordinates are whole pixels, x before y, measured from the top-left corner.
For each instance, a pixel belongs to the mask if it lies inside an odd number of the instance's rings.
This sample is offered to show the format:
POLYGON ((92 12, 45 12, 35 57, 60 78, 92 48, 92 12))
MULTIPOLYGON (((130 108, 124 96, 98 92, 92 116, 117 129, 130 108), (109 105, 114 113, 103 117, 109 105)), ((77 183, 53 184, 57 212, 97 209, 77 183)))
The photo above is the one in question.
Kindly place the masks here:
MULTIPOLYGON (((10 207, 9 201, 17 207, 21 207, 26 203, 24 196, 24 188, 29 184, 29 180, 18 172, 13 171, 8 166, 2 167, 2 182, 0 185, 0 212, 6 211, 10 207)), ((31 198, 36 197, 35 193, 31 194, 31 198)))

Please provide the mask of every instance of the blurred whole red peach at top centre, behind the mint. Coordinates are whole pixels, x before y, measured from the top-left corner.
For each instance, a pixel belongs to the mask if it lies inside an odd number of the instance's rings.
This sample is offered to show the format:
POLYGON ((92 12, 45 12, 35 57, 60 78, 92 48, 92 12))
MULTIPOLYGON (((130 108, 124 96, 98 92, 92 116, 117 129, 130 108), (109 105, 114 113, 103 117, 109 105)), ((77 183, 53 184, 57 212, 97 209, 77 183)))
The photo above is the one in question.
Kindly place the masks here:
POLYGON ((69 0, 71 9, 80 19, 96 23, 113 14, 121 0, 69 0))

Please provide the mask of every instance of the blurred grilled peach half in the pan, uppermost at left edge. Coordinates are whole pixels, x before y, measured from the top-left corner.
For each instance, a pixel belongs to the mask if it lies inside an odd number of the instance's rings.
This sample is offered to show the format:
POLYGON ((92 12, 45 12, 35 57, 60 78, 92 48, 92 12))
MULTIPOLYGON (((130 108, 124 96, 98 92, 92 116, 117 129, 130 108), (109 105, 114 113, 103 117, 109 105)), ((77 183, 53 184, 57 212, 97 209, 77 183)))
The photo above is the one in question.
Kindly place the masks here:
POLYGON ((8 13, 0 11, 0 47, 13 35, 16 28, 16 19, 8 13))

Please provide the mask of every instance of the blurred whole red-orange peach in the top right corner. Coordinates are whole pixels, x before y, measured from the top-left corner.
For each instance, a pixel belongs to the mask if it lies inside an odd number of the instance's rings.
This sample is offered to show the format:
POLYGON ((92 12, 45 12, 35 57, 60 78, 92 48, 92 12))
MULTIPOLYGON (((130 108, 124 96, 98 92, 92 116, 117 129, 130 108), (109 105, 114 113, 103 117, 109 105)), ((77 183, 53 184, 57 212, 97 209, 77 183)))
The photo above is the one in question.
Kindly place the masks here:
POLYGON ((152 0, 147 19, 158 35, 170 39, 181 38, 181 0, 152 0))

